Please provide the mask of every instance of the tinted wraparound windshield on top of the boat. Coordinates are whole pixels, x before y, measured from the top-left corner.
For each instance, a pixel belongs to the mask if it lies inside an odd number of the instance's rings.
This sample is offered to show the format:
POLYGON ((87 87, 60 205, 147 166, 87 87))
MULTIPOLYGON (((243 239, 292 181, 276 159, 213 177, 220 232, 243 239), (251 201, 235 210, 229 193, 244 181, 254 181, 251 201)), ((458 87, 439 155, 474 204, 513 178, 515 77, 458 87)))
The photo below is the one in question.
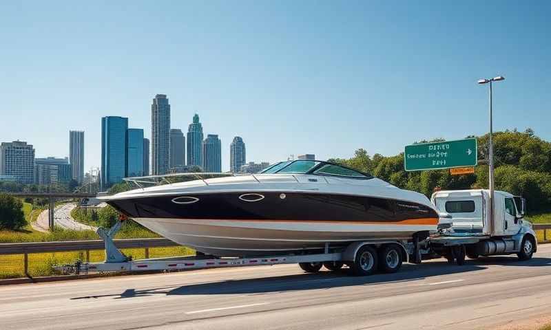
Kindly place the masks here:
POLYGON ((271 167, 263 170, 261 173, 287 173, 287 174, 317 174, 331 175, 334 177, 349 177, 354 179, 371 179, 371 175, 347 168, 338 164, 320 162, 318 160, 288 160, 287 162, 279 162, 271 167))

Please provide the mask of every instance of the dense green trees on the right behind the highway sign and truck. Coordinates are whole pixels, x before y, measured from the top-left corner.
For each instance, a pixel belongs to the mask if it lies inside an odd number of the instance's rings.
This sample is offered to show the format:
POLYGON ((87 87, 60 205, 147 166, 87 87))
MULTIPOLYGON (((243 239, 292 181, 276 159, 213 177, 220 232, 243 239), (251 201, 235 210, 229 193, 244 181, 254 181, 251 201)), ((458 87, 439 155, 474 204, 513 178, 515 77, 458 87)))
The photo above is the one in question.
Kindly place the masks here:
MULTIPOLYGON (((469 175, 450 175, 449 170, 406 172, 404 153, 389 157, 378 153, 370 156, 363 148, 355 151, 349 159, 333 158, 329 161, 371 173, 394 186, 422 192, 427 197, 435 187, 488 188, 488 134, 476 138, 479 165, 475 166, 475 173, 469 175)), ((436 141, 441 139, 414 143, 436 141)), ((493 141, 496 189, 525 197, 532 211, 551 210, 551 143, 537 137, 532 129, 497 132, 493 141)))

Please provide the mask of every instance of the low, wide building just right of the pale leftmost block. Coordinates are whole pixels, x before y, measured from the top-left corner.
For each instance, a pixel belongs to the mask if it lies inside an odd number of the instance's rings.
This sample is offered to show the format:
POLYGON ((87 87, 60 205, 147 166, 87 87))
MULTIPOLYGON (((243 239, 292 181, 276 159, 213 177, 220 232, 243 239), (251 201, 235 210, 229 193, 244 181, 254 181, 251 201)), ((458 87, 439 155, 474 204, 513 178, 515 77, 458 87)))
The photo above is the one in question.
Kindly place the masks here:
POLYGON ((34 183, 41 186, 49 184, 67 184, 72 179, 69 158, 36 158, 34 159, 34 183))

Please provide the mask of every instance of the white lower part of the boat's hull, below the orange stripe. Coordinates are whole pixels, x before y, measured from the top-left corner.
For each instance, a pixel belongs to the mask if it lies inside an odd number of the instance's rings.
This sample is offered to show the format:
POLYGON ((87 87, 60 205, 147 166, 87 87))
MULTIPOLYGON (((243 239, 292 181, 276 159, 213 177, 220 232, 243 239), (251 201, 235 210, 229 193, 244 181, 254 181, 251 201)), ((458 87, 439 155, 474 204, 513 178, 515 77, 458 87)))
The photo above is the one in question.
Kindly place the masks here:
POLYGON ((215 256, 258 256, 322 249, 351 241, 411 239, 434 225, 331 221, 243 221, 229 219, 136 218, 141 225, 180 245, 215 256))

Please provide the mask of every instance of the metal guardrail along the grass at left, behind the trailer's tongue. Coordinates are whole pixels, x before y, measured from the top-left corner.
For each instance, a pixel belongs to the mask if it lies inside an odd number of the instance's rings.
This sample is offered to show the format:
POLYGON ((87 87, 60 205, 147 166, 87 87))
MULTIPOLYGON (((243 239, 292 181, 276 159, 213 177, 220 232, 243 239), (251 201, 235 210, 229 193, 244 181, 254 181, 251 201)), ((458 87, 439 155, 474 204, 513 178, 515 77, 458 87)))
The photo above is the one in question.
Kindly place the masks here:
MULTIPOLYGON (((165 248, 179 246, 169 239, 115 239, 114 243, 119 249, 143 248, 145 259, 149 258, 149 248, 165 248)), ((103 250, 105 244, 101 240, 90 241, 61 241, 61 242, 32 242, 32 243, 0 243, 1 254, 23 254, 23 267, 28 276, 30 253, 43 252, 70 252, 85 251, 86 262, 90 262, 90 250, 103 250)))

